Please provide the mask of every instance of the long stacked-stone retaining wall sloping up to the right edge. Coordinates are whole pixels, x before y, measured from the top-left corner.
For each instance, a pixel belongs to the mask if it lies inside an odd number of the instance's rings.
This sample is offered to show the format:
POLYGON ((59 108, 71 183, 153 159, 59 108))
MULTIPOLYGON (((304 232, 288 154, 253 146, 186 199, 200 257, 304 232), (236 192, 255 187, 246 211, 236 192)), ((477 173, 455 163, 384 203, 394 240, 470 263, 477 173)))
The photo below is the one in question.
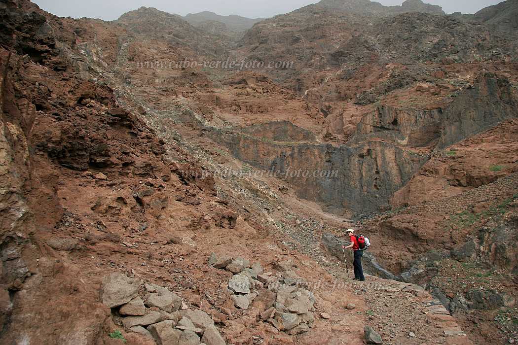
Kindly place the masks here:
POLYGON ((386 212, 381 215, 381 218, 389 218, 396 214, 413 214, 419 212, 453 214, 459 211, 465 211, 479 203, 496 201, 506 195, 514 195, 516 193, 518 193, 518 173, 513 173, 498 179, 498 181, 457 196, 386 212))

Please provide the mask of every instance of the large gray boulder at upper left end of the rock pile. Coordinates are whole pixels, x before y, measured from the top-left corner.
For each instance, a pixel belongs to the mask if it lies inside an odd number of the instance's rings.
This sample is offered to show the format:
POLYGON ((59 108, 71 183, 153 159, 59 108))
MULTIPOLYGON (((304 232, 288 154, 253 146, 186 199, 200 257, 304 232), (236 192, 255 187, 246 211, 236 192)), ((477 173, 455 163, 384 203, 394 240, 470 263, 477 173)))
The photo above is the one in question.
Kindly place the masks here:
POLYGON ((118 307, 138 295, 139 283, 121 273, 112 273, 103 278, 101 299, 108 307, 118 307))

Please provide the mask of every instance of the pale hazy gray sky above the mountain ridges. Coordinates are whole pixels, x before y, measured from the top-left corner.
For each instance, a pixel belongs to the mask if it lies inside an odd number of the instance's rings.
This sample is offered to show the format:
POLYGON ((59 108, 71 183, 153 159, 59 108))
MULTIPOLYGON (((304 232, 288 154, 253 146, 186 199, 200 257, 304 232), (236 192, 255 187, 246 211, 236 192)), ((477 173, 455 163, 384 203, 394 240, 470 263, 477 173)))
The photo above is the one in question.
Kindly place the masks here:
MULTIPOLYGON (((187 13, 212 11, 222 15, 239 14, 243 17, 272 17, 297 8, 317 3, 319 0, 33 0, 48 12, 60 17, 90 17, 114 20, 127 11, 141 6, 155 7, 169 13, 185 16, 187 13)), ((402 0, 378 0, 383 5, 401 5, 402 0)), ((447 13, 474 13, 495 5, 500 0, 425 0, 442 6, 447 13)))

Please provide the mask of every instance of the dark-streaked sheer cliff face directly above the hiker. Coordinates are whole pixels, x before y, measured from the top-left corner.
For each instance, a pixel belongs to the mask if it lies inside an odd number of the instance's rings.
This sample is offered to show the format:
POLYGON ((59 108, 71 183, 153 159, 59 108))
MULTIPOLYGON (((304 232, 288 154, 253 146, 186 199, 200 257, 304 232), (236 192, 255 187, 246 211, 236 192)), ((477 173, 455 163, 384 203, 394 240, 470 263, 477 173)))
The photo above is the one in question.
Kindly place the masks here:
POLYGON ((207 135, 238 159, 290 182, 298 197, 321 202, 329 212, 340 215, 387 207, 393 193, 428 159, 381 141, 334 147, 283 145, 217 130, 207 135))

